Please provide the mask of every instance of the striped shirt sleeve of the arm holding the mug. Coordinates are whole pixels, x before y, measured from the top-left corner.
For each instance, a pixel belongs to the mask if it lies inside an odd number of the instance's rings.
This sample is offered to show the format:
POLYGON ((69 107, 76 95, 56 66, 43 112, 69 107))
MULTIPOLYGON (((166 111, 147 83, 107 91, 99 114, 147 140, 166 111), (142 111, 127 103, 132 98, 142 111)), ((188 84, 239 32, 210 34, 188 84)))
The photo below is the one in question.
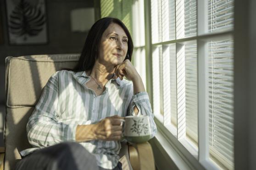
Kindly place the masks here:
POLYGON ((76 124, 57 122, 58 72, 45 85, 28 120, 28 141, 35 147, 46 147, 64 141, 75 141, 76 124))

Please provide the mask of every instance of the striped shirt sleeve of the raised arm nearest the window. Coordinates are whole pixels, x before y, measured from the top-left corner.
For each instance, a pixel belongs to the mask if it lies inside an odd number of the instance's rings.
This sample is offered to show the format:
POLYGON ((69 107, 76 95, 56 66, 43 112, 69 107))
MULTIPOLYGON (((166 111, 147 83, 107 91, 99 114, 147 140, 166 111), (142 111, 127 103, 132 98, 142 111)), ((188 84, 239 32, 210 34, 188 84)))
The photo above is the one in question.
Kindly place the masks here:
POLYGON ((150 127, 151 127, 151 135, 150 138, 153 138, 157 133, 156 123, 154 121, 154 114, 152 113, 151 104, 149 100, 149 96, 147 92, 140 92, 138 94, 135 94, 132 97, 132 100, 130 102, 130 105, 128 107, 128 115, 135 116, 134 113, 134 106, 137 106, 139 109, 138 116, 139 115, 147 115, 150 119, 150 127))

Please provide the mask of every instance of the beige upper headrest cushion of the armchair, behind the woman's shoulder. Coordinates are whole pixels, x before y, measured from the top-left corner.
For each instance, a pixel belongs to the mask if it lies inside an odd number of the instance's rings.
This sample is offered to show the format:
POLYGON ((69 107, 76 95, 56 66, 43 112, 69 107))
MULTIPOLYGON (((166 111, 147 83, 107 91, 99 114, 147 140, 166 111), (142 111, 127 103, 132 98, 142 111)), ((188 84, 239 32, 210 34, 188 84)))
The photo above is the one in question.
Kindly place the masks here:
POLYGON ((6 105, 11 108, 35 106, 41 91, 52 74, 62 68, 73 68, 79 54, 31 55, 8 57, 6 64, 6 105))

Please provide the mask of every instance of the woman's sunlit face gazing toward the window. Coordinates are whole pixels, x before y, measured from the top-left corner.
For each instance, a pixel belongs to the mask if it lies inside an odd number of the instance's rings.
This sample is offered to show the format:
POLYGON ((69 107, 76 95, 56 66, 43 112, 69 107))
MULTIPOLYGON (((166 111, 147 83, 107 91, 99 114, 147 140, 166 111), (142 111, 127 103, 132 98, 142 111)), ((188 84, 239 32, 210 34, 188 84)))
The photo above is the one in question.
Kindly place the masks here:
POLYGON ((122 27, 111 23, 100 40, 100 64, 116 66, 123 62, 128 50, 128 37, 122 27))

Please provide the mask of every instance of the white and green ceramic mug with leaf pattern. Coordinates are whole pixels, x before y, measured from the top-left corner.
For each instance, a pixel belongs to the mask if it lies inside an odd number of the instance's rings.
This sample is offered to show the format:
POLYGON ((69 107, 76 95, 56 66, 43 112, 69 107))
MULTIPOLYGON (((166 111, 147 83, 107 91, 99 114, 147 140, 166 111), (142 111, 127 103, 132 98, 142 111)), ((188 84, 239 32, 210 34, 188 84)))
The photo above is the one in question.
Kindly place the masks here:
POLYGON ((150 139, 151 128, 148 116, 127 116, 122 119, 123 137, 130 143, 144 143, 150 139))

